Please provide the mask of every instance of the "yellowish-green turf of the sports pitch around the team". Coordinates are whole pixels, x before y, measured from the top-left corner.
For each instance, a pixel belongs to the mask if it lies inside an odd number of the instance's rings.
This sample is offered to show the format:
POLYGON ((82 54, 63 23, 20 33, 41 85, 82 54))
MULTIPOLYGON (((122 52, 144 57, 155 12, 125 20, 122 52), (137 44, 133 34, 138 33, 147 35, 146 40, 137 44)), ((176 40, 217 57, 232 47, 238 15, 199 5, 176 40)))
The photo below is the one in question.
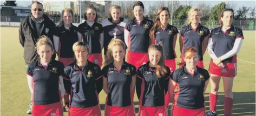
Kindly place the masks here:
MULTIPOLYGON (((255 63, 255 31, 244 31, 244 42, 238 58, 255 63)), ((179 42, 176 48, 179 52, 179 42)), ((177 58, 179 61, 180 58, 177 58)), ((206 69, 209 66, 209 55, 204 56, 206 69)), ((28 115, 30 93, 27 84, 26 66, 23 59, 23 48, 18 40, 18 28, 1 28, 1 115, 28 115)), ((209 110, 208 85, 205 94, 206 110, 209 110)), ((218 113, 224 114, 224 91, 222 81, 219 89, 220 95, 217 104, 218 113)), ((233 86, 234 105, 233 115, 255 115, 255 65, 238 60, 238 76, 234 79, 233 86)), ((137 110, 136 95, 134 97, 137 110)), ((106 94, 100 93, 102 115, 104 115, 104 103, 106 94)), ((68 115, 65 113, 65 115, 68 115)))

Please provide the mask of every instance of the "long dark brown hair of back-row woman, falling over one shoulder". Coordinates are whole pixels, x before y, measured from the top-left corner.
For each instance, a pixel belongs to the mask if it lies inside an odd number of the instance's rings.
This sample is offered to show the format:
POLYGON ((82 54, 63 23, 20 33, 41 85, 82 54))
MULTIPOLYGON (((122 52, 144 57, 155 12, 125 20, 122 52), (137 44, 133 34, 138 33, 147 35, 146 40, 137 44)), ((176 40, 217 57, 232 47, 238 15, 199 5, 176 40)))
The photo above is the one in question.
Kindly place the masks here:
POLYGON ((149 33, 149 37, 150 37, 150 44, 152 44, 152 40, 155 39, 155 31, 157 28, 160 28, 161 26, 161 22, 160 22, 160 13, 162 11, 167 11, 168 12, 168 15, 170 16, 170 12, 169 12, 169 9, 167 7, 162 7, 160 9, 158 9, 157 11, 157 14, 156 14, 156 17, 155 17, 155 22, 154 22, 154 25, 153 27, 150 29, 150 33, 149 33))

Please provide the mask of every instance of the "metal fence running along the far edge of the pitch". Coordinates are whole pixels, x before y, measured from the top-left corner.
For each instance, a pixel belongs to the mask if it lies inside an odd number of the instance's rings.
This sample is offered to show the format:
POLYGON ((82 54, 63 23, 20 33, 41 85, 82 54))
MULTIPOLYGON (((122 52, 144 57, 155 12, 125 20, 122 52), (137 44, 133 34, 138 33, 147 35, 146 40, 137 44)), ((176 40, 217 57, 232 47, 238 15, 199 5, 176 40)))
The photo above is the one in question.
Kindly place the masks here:
MULTIPOLYGON (((48 15, 48 16, 55 23, 58 23, 61 18, 60 15, 48 15)), ((1 22, 21 22, 24 18, 25 17, 23 16, 1 16, 1 22)), ((82 16, 82 19, 84 19, 83 16, 82 16)), ((102 20, 103 18, 101 17, 98 18, 99 23, 101 23, 102 20)), ((249 30, 249 25, 251 22, 253 22, 253 29, 250 29, 250 30, 255 30, 255 20, 234 20, 233 25, 241 28, 242 30, 249 30)), ((73 23, 80 23, 80 15, 74 15, 73 23)), ((210 30, 220 26, 218 21, 209 22, 207 20, 202 20, 200 21, 200 23, 206 26, 207 28, 209 28, 210 30)), ((169 20, 169 24, 170 24, 170 20, 169 20)), ((176 26, 178 29, 181 29, 183 26, 186 25, 186 20, 176 20, 176 21, 174 20, 173 25, 176 26)))

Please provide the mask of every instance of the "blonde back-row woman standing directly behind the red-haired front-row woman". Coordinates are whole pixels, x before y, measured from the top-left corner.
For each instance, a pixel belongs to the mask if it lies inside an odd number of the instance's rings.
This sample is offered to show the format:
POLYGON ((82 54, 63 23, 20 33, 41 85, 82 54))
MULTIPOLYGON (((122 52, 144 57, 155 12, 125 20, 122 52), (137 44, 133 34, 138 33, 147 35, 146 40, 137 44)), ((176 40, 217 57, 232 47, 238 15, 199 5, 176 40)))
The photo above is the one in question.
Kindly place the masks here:
MULTIPOLYGON (((209 29, 199 23, 199 9, 191 8, 188 12, 187 24, 180 31, 180 52, 181 64, 184 63, 184 53, 187 47, 193 46, 198 50, 199 61, 198 66, 204 68, 203 56, 205 54, 208 39, 209 29)), ((182 67, 183 65, 180 65, 182 67)))

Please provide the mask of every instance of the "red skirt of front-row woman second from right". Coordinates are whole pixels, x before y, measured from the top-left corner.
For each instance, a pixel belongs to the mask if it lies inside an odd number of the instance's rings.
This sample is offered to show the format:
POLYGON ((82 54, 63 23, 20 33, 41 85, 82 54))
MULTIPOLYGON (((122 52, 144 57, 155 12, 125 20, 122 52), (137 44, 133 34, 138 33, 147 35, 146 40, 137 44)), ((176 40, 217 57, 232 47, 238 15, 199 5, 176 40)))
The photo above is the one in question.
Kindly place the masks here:
POLYGON ((139 116, 155 116, 155 115, 166 115, 166 107, 165 106, 139 106, 139 116))

